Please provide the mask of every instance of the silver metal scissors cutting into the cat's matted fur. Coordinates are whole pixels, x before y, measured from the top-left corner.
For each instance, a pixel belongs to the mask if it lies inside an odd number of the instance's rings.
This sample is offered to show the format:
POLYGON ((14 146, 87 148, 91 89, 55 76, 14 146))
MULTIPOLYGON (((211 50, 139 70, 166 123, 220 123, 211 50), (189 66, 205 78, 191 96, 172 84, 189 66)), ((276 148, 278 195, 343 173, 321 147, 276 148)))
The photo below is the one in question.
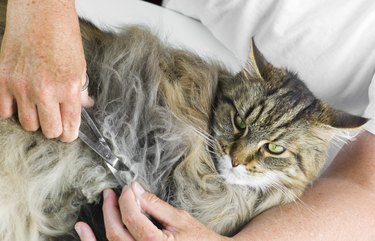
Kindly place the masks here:
POLYGON ((95 151, 107 164, 109 170, 116 178, 118 184, 123 187, 125 182, 122 180, 120 171, 129 171, 129 168, 112 152, 103 135, 100 133, 94 120, 91 118, 85 108, 81 109, 82 123, 79 128, 79 138, 95 151), (88 128, 87 128, 88 127, 88 128))

